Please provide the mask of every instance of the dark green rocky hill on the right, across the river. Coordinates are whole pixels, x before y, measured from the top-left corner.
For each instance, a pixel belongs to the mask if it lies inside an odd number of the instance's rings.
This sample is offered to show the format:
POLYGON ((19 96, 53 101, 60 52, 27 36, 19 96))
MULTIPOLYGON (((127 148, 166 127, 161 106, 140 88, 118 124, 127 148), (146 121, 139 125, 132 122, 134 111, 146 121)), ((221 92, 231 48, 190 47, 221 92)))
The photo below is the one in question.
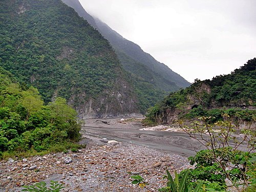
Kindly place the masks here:
POLYGON ((249 122, 256 126, 256 58, 231 74, 212 80, 196 81, 188 88, 171 93, 150 109, 145 122, 172 124, 178 119, 188 120, 199 116, 211 117, 211 122, 228 114, 239 126, 249 122))

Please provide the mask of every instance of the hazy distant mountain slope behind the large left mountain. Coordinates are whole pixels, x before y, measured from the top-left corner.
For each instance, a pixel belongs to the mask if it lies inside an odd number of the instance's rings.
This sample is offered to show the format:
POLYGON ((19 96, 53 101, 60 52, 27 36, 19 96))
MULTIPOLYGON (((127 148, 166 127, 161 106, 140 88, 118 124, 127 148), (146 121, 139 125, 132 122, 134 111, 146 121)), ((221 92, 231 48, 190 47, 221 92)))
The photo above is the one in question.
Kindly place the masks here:
POLYGON ((89 24, 109 40, 123 68, 133 79, 142 113, 163 98, 166 92, 177 91, 190 85, 183 77, 145 53, 134 42, 123 38, 101 20, 88 14, 78 0, 62 1, 74 8, 81 17, 88 20, 89 24))

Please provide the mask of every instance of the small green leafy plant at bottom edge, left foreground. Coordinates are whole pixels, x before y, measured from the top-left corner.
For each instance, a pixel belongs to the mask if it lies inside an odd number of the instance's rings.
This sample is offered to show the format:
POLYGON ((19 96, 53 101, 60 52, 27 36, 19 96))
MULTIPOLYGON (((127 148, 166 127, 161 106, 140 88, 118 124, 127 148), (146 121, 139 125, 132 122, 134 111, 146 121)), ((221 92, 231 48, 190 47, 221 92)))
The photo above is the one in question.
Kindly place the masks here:
POLYGON ((24 186, 25 189, 22 191, 30 191, 30 192, 59 192, 60 189, 65 188, 62 183, 58 183, 57 181, 51 181, 50 186, 47 187, 46 182, 39 182, 34 185, 24 186))

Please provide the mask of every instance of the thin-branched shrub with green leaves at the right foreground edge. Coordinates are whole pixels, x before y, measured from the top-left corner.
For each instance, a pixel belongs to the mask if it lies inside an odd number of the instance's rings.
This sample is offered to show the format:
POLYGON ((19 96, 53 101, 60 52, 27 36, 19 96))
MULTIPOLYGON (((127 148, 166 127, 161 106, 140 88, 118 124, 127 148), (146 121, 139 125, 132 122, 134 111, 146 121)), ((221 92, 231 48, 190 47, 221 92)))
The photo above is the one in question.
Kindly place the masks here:
POLYGON ((195 122, 193 127, 180 122, 191 138, 207 148, 195 157, 189 157, 190 164, 196 163, 196 168, 191 170, 188 178, 190 181, 207 179, 211 184, 219 183, 216 185, 221 186, 218 190, 226 188, 225 179, 228 179, 238 190, 241 186, 246 189, 255 185, 256 154, 253 152, 256 133, 245 129, 238 135, 229 116, 223 118, 224 121, 212 125, 208 124, 210 117, 201 117, 203 123, 195 122))

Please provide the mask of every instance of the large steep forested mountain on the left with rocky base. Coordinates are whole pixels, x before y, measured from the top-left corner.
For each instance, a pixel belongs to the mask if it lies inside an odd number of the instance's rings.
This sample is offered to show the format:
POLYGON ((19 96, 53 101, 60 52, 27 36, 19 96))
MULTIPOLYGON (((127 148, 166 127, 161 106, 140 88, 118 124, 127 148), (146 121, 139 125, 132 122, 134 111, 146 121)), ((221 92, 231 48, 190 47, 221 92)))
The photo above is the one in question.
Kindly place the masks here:
MULTIPOLYGON (((60 0, 0 2, 0 66, 48 103, 80 118, 139 113, 129 75, 108 40, 60 0)), ((25 89, 24 88, 24 89, 25 89)))

